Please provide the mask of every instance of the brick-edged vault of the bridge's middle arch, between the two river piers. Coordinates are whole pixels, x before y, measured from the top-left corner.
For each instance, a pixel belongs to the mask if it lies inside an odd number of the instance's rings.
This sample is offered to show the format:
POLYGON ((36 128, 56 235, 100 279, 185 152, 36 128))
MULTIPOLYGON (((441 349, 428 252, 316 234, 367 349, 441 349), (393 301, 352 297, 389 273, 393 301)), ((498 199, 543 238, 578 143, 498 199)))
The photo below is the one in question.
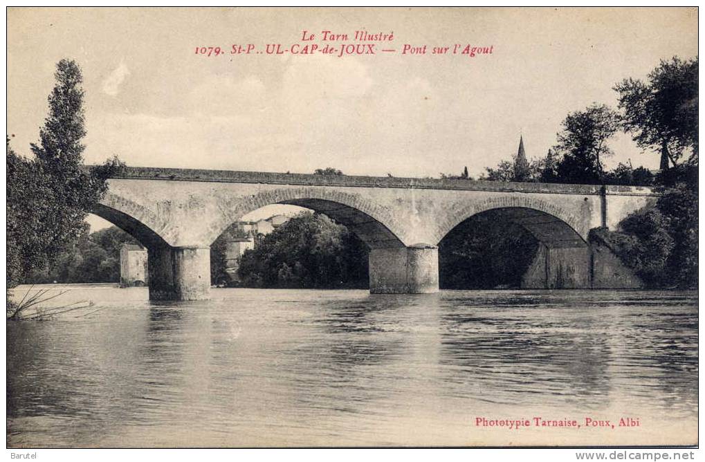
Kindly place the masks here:
POLYGON ((221 210, 221 218, 207 232, 207 241, 213 242, 228 226, 247 213, 273 204, 288 204, 310 208, 324 213, 345 225, 360 237, 370 249, 400 248, 403 243, 403 225, 384 206, 374 204, 357 194, 321 187, 271 189, 228 203, 221 210))

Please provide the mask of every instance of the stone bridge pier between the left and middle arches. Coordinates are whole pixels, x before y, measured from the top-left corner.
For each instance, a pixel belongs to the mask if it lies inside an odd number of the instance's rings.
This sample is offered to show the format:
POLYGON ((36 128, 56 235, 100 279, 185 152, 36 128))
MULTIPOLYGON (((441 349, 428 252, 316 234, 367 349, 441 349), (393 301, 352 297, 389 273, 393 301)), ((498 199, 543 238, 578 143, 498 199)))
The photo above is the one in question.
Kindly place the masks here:
POLYGON ((150 300, 207 300, 211 288, 209 247, 160 246, 149 249, 150 300))

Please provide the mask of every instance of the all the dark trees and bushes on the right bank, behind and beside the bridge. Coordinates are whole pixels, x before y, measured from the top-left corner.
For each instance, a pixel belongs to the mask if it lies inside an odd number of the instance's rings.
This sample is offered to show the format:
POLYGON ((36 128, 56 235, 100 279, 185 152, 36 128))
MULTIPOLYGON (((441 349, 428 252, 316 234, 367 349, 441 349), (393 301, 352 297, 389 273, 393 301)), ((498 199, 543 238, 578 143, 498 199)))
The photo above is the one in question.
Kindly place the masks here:
MULTIPOLYGON (((593 230, 591 238, 610 246, 646 287, 695 288, 697 73, 697 57, 661 61, 646 81, 630 78, 615 85, 618 111, 592 104, 570 113, 545 158, 521 164, 516 159, 501 161, 496 168, 486 168, 479 179, 654 187, 661 194, 655 204, 632 213, 617 230, 593 230), (613 155, 608 142, 619 130, 630 134, 637 146, 660 156, 657 175, 643 167, 632 168, 631 163, 604 168, 604 159, 613 155)), ((453 178, 471 179, 467 168, 453 178)), ((494 238, 511 239, 513 234, 508 228, 500 229, 494 238)))

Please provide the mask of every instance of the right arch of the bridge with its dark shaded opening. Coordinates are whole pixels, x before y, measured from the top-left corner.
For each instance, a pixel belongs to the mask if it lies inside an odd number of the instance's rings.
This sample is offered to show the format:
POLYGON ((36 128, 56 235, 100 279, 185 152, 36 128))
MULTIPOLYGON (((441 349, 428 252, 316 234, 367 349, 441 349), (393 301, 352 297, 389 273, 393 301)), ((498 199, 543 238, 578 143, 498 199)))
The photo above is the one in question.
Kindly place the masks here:
POLYGON ((578 231, 581 222, 560 206, 526 196, 495 197, 465 206, 450 223, 453 227, 439 240, 441 287, 575 289, 590 285, 590 249, 578 231), (477 220, 470 223, 473 218, 477 220), (510 223, 521 229, 506 232, 510 223), (490 240, 473 251, 479 251, 479 257, 470 258, 455 249, 464 248, 458 238, 472 235, 472 230, 490 240))

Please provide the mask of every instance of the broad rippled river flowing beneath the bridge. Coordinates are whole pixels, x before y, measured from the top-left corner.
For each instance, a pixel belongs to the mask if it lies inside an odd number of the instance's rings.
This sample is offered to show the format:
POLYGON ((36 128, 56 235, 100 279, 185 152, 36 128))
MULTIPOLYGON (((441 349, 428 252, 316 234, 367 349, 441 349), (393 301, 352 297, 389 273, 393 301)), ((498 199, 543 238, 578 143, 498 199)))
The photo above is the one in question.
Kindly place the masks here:
POLYGON ((697 292, 65 288, 7 324, 8 447, 697 443, 697 292))

